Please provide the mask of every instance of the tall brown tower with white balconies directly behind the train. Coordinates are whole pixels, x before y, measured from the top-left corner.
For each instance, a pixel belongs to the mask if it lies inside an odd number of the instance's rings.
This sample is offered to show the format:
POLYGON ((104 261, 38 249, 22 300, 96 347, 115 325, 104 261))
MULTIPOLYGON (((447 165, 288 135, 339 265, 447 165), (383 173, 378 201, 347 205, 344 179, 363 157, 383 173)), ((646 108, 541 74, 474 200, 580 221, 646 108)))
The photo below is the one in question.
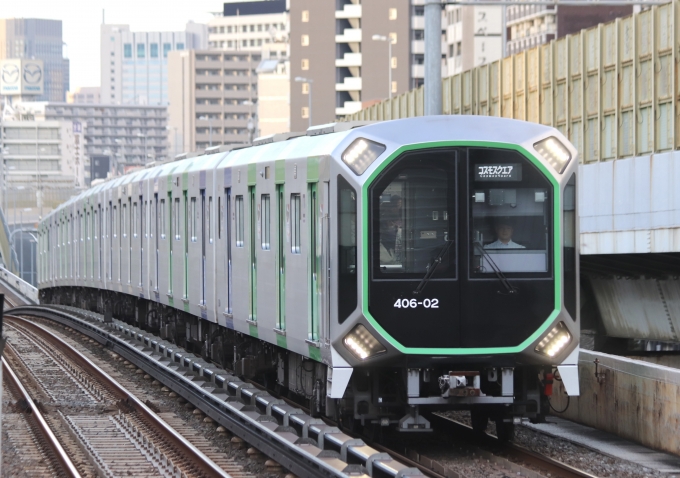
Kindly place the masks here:
MULTIPOLYGON (((368 101, 408 91, 418 78, 422 81, 414 68, 420 51, 415 33, 422 27, 412 18, 411 3, 290 0, 293 130, 305 130, 310 115, 314 124, 332 122, 368 101)), ((422 56, 424 45, 421 50, 422 56)))

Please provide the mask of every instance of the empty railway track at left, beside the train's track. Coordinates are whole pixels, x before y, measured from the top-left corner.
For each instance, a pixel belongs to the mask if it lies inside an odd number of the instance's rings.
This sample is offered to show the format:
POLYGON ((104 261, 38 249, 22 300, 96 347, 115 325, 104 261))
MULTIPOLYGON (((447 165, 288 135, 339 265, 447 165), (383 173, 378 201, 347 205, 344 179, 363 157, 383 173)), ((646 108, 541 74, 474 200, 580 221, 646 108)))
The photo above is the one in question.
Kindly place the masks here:
POLYGON ((8 362, 53 412, 43 423, 63 443, 57 457, 76 463, 66 476, 230 476, 59 337, 17 316, 6 315, 5 326, 8 362))

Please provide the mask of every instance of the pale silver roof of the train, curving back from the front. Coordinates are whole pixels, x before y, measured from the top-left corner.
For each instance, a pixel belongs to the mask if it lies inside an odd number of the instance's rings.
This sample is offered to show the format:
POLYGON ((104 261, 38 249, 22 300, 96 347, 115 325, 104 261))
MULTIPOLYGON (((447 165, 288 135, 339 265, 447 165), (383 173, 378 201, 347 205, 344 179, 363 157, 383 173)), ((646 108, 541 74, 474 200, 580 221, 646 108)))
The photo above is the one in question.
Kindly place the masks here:
MULTIPOLYGON (((84 197, 135 183, 148 177, 160 178, 177 172, 235 167, 263 161, 293 160, 319 156, 338 157, 356 137, 366 137, 382 143, 386 146, 385 153, 390 154, 399 147, 408 144, 444 141, 530 145, 548 134, 564 138, 550 126, 491 116, 441 115, 377 123, 331 123, 314 126, 307 131, 306 135, 302 135, 302 133, 272 135, 257 140, 253 146, 229 148, 226 151, 219 151, 221 148, 213 148, 216 151, 210 154, 184 157, 151 168, 133 171, 83 191, 58 206, 46 217, 68 208, 84 197), (264 144, 262 144, 263 142, 264 144)), ((564 138, 564 142, 568 144, 566 138, 564 138)), ((573 153, 575 154, 576 151, 573 151, 573 153)))

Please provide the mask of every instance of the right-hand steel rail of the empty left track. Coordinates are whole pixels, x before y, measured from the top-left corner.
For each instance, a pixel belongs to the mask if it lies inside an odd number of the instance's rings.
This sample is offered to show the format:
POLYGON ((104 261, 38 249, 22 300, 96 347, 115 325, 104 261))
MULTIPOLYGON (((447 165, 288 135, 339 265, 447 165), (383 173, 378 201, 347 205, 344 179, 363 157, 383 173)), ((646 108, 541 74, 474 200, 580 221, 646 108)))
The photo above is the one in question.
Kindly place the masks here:
POLYGON ((202 451, 189 443, 182 435, 177 433, 158 415, 156 415, 144 402, 139 400, 135 395, 130 393, 117 381, 115 381, 109 374, 99 368, 90 359, 85 357, 61 338, 45 329, 39 324, 26 320, 25 318, 16 315, 5 315, 5 319, 10 322, 20 323, 25 329, 29 329, 32 333, 42 337, 51 344, 55 345, 63 353, 67 354, 79 367, 87 371, 94 378, 98 379, 105 387, 112 390, 120 399, 123 399, 131 406, 141 417, 148 420, 153 427, 155 427, 172 446, 177 448, 184 456, 191 460, 191 465, 204 473, 206 476, 230 478, 227 472, 220 468, 215 462, 208 458, 202 451))

